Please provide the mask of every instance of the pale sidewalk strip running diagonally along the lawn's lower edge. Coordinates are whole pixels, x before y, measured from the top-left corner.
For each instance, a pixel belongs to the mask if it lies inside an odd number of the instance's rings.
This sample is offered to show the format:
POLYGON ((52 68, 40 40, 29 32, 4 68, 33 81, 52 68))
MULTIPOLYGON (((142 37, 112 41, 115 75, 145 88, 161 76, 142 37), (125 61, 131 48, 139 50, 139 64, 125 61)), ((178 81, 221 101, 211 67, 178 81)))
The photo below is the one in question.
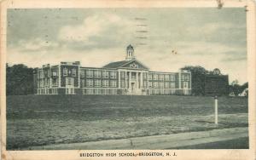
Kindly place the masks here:
POLYGON ((181 134, 163 134, 120 140, 102 140, 73 144, 32 146, 31 150, 122 150, 122 149, 168 149, 194 146, 224 140, 248 137, 247 128, 214 129, 210 131, 181 134))

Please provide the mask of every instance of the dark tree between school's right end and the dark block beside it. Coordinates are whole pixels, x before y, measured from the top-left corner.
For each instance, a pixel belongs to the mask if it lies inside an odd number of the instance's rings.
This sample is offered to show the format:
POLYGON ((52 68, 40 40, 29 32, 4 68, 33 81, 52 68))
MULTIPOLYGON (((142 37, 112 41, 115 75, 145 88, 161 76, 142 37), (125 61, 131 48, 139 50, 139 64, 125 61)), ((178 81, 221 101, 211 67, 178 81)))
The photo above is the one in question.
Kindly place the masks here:
POLYGON ((182 70, 191 71, 191 87, 192 94, 203 95, 205 94, 205 75, 212 74, 202 66, 185 66, 182 70))

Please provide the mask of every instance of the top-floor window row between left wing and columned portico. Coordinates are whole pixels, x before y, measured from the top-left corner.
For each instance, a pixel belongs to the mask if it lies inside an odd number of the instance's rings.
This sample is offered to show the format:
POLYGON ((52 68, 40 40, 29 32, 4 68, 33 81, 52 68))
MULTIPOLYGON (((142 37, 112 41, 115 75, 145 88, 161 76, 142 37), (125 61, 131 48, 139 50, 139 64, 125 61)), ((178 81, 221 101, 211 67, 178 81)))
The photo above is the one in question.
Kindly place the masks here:
POLYGON ((80 77, 103 77, 103 78, 117 78, 117 71, 101 71, 101 70, 85 70, 80 71, 80 77))

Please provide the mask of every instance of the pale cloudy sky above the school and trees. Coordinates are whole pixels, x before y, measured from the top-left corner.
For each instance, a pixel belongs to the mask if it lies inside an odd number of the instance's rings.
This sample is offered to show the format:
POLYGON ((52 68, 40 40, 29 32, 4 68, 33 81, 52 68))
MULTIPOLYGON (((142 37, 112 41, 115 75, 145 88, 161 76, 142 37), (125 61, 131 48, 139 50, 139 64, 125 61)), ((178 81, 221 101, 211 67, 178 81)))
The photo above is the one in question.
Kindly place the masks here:
POLYGON ((9 9, 7 20, 10 65, 102 67, 125 60, 131 44, 151 71, 203 66, 247 82, 243 8, 9 9))

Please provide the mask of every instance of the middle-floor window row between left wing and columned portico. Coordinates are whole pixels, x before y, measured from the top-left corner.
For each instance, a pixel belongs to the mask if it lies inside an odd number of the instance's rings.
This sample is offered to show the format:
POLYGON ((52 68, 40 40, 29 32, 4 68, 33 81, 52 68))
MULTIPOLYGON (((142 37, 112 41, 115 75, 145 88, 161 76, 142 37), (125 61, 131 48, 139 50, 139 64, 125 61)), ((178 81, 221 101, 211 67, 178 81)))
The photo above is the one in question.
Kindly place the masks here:
POLYGON ((100 80, 100 79, 86 79, 86 83, 84 79, 81 81, 82 87, 117 87, 117 81, 116 80, 100 80))

